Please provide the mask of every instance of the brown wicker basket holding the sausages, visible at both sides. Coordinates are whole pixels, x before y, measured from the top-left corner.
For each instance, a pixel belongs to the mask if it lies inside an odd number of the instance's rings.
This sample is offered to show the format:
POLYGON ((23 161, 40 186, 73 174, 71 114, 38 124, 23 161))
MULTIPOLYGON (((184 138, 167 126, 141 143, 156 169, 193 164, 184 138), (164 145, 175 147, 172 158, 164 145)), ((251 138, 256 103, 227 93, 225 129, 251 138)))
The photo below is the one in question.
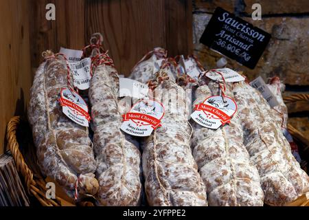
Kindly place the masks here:
MULTIPOLYGON (((284 98, 285 102, 296 102, 300 100, 309 100, 309 95, 293 95, 284 98)), ((309 140, 304 137, 299 131, 297 131, 293 126, 288 125, 288 131, 297 140, 297 144, 303 154, 309 158, 309 140)), ((27 125, 25 120, 21 120, 19 116, 15 116, 8 123, 7 128, 7 140, 8 148, 12 152, 16 168, 19 173, 23 176, 25 181, 25 186, 30 195, 33 195, 42 206, 75 206, 76 204, 65 197, 64 193, 56 196, 56 199, 47 199, 45 197, 46 193, 46 183, 47 181, 43 178, 38 166, 36 164, 36 155, 34 144, 32 142, 32 135, 30 127, 27 125), (18 130, 20 127, 22 132, 19 137, 18 130), (25 137, 26 136, 26 137, 25 137), (21 143, 24 145, 21 147, 21 143), (22 153, 23 152, 23 153, 22 153), (28 158, 30 155, 30 158, 28 158), (27 159, 28 158, 28 159, 27 159)), ((56 191, 60 190, 57 188, 56 191)), ((90 201, 84 201, 79 203, 80 206, 93 206, 90 201)), ((286 206, 309 206, 309 193, 299 197, 297 200, 286 204, 286 206)))

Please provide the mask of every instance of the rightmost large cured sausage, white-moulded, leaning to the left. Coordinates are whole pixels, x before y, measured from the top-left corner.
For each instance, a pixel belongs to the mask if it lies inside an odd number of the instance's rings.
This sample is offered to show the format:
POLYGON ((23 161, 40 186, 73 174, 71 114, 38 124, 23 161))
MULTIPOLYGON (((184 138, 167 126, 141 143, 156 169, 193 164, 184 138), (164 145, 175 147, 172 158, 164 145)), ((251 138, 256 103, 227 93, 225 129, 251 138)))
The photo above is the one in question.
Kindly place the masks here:
POLYGON ((264 202, 283 206, 308 192, 309 177, 290 152, 266 100, 244 82, 235 83, 233 94, 244 131, 244 144, 260 174, 264 202))

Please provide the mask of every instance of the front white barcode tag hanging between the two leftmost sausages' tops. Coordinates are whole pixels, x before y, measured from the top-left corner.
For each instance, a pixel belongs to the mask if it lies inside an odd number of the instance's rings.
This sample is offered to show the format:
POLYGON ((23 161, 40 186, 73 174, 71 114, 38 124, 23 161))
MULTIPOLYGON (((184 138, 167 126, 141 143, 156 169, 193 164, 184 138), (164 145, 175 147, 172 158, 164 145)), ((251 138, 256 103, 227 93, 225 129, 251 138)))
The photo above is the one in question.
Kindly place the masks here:
POLYGON ((74 86, 80 90, 89 89, 91 80, 91 58, 84 58, 80 62, 69 63, 73 73, 74 86))

